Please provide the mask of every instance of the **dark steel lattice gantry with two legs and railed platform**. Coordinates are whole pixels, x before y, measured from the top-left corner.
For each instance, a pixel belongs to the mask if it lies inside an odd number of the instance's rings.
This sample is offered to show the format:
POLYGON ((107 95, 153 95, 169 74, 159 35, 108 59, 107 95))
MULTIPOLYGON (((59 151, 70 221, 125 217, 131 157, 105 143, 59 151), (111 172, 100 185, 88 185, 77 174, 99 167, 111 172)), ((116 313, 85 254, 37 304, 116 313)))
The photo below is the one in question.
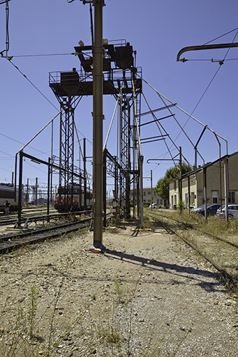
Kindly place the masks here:
MULTIPOLYGON (((135 204, 140 179, 140 160, 138 158, 138 135, 135 117, 140 121, 140 100, 142 93, 142 73, 135 68, 133 47, 126 40, 103 44, 103 95, 119 99, 119 157, 107 149, 103 152, 103 211, 106 205, 106 178, 114 177, 114 192, 119 202, 119 213, 131 218, 131 190, 135 204), (137 73, 140 77, 137 77, 137 73)), ((59 185, 70 186, 73 182, 73 116, 77 103, 83 96, 94 95, 94 48, 76 46, 75 54, 80 59, 80 71, 50 73, 50 88, 54 92, 65 116, 61 119, 61 144, 59 166, 61 172, 59 185), (74 105, 75 104, 75 105, 74 105), (74 106, 73 106, 74 105, 74 106)), ((105 216, 104 216, 105 217, 105 216)), ((104 220, 105 222, 105 220, 104 220)))

